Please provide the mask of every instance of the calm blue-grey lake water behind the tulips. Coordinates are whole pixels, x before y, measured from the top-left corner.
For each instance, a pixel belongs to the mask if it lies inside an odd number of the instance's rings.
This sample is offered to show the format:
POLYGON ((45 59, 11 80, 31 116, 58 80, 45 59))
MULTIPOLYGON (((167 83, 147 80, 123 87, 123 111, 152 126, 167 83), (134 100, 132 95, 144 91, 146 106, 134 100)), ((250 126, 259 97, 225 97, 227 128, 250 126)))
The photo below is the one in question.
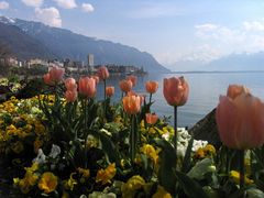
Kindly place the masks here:
MULTIPOLYGON (((168 106, 163 97, 163 79, 184 76, 189 82, 190 92, 187 103, 178 108, 178 125, 193 127, 213 108, 218 106, 219 96, 226 95, 230 84, 244 85, 251 92, 264 101, 264 72, 262 73, 189 73, 189 74, 148 74, 138 77, 136 92, 145 94, 146 80, 158 81, 158 90, 153 95, 155 101, 152 111, 160 117, 173 116, 173 107, 168 106)), ((120 100, 119 80, 124 77, 108 79, 107 84, 116 87, 114 100, 120 100)), ((102 99, 102 84, 98 87, 99 99, 102 99)), ((148 97, 148 96, 147 96, 148 97)))

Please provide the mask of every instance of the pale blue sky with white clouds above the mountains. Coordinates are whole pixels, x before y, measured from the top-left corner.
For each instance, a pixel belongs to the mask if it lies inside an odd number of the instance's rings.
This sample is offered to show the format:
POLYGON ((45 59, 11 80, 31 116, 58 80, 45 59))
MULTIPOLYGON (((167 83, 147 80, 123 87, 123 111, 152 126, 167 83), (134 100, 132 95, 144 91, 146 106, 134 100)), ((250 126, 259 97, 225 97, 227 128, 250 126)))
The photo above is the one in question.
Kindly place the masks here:
POLYGON ((0 14, 134 46, 172 69, 264 51, 263 0, 0 0, 0 14))

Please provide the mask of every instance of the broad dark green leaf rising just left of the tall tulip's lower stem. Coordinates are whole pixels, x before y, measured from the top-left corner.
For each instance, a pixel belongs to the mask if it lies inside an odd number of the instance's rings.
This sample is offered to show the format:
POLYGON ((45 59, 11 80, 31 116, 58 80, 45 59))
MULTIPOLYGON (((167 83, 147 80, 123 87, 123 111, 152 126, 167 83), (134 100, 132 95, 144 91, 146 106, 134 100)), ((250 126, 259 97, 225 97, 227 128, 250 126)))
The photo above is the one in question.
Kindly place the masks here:
POLYGON ((172 144, 163 139, 155 139, 157 146, 162 147, 160 153, 161 168, 158 180, 161 185, 170 194, 176 194, 176 177, 174 168, 176 167, 176 153, 172 144))

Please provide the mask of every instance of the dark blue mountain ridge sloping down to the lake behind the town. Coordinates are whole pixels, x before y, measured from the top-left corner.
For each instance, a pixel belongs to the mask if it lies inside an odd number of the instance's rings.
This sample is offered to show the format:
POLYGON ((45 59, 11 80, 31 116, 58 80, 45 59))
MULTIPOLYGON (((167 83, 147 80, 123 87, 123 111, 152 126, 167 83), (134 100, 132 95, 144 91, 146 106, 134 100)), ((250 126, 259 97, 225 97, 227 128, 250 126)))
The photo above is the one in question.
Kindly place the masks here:
MULTIPOLYGON (((52 56, 53 58, 70 58, 86 63, 87 55, 94 54, 96 65, 134 65, 143 67, 144 70, 151 73, 169 72, 151 54, 141 52, 135 47, 113 43, 111 41, 97 40, 95 37, 74 33, 70 30, 52 28, 41 22, 0 16, 0 23, 2 23, 2 28, 3 24, 19 28, 28 36, 28 38, 30 36, 32 41, 34 40, 34 43, 40 43, 42 45, 42 47, 40 47, 42 50, 40 51, 46 51, 44 54, 46 54, 46 56, 52 56)), ((8 29, 8 26, 4 28, 8 29)), ((10 36, 6 43, 11 45, 15 42, 12 40, 12 36, 10 36)), ((11 50, 14 51, 13 45, 11 45, 11 50)), ((32 52, 29 52, 28 54, 31 53, 32 52)))

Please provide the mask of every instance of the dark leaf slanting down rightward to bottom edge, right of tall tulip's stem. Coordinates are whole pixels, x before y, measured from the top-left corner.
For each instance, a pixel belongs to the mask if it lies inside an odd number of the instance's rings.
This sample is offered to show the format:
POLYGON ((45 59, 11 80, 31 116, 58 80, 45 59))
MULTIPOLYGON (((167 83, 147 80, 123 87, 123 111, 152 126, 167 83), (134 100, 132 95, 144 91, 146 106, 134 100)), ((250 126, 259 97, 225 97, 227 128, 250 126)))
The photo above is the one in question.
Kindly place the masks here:
POLYGON ((202 187, 194 179, 189 178, 186 174, 174 170, 178 182, 179 186, 183 187, 185 194, 188 197, 193 198, 209 198, 209 196, 205 193, 202 187))

